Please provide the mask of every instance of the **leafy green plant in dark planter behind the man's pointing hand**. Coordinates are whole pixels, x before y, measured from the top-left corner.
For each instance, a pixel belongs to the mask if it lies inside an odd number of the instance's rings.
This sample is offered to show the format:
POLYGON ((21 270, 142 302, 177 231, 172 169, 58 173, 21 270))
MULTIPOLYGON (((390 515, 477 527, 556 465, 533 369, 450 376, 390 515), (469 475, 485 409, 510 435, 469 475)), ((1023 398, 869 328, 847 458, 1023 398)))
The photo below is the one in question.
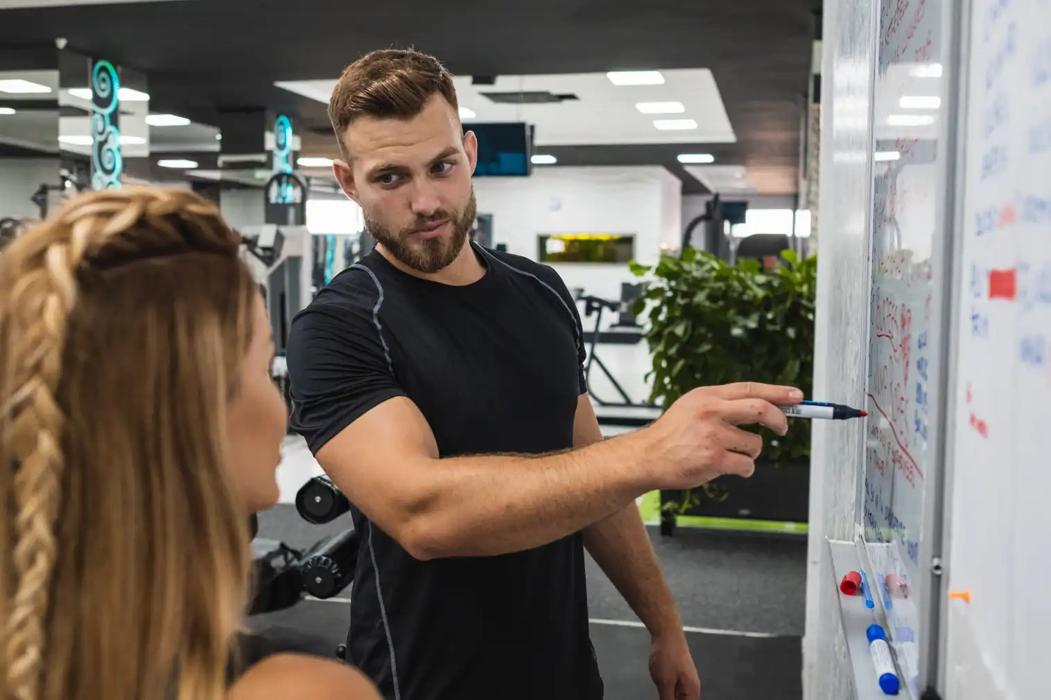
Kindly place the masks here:
MULTIPOLYGON (((808 391, 813 376, 817 258, 792 251, 763 270, 758 260, 730 266, 687 249, 655 267, 632 263, 644 278, 635 302, 653 357, 651 401, 668 406, 697 386, 757 381, 808 391)), ((805 522, 810 424, 794 421, 780 437, 763 437, 759 468, 749 480, 722 476, 700 489, 663 492, 662 510, 678 515, 805 522)))

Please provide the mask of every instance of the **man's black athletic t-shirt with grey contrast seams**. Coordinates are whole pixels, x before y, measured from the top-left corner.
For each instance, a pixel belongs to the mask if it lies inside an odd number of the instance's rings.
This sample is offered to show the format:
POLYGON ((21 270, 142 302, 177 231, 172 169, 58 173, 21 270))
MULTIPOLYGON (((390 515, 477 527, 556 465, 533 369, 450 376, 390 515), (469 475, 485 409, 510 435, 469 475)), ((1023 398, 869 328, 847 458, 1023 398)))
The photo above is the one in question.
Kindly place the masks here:
MULTIPOLYGON (((292 424, 313 452, 408 397, 442 458, 573 446, 586 390, 580 317, 545 266, 473 246, 480 280, 408 275, 376 252, 292 322, 292 424)), ((390 700, 599 700, 579 533, 419 561, 352 508, 362 535, 348 660, 390 700)), ((483 532, 478 533, 485 536, 483 532)))

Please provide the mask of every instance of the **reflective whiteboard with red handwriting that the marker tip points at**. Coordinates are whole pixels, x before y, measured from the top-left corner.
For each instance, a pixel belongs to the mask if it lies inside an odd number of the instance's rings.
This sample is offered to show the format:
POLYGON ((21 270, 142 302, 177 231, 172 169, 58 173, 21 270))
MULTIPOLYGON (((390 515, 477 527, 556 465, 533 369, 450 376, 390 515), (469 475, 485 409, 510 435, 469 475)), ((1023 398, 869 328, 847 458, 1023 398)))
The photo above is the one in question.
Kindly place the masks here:
MULTIPOLYGON (((873 593, 913 698, 921 691, 923 599, 937 332, 947 287, 944 212, 949 182, 945 65, 949 3, 882 0, 872 101, 871 295, 862 536, 873 593)), ((929 556, 929 554, 928 554, 929 556)))

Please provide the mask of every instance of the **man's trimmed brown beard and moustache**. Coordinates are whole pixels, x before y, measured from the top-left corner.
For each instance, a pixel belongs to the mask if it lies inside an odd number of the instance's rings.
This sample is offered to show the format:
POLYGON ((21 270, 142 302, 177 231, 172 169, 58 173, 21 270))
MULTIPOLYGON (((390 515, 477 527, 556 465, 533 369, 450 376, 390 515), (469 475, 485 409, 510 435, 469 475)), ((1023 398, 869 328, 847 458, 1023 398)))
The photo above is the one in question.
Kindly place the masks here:
POLYGON ((460 254, 460 251, 463 250, 468 233, 471 231, 471 227, 474 226, 477 209, 478 207, 474 199, 474 189, 472 189, 471 199, 459 216, 439 209, 430 216, 417 218, 411 226, 396 233, 392 233, 379 221, 367 213, 363 213, 365 215, 366 230, 377 243, 394 256, 394 259, 411 270, 425 275, 433 275, 448 268, 456 259, 456 256, 460 254), (426 227, 428 224, 446 220, 451 221, 453 228, 452 234, 448 238, 438 236, 437 238, 418 241, 421 245, 410 245, 415 231, 426 227))

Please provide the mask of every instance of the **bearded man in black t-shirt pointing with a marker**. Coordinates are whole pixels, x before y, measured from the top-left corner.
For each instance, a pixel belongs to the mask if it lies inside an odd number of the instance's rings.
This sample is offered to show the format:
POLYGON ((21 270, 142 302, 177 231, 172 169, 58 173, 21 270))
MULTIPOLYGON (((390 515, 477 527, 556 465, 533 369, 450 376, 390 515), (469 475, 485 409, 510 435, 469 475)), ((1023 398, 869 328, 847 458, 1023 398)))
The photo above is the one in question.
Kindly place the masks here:
POLYGON ((376 250, 292 323, 293 425, 354 504, 348 659, 393 700, 600 700, 584 549, 652 635, 661 700, 700 681, 635 499, 749 475, 789 387, 697 389, 602 440, 573 298, 468 241, 477 142, 433 58, 347 68, 335 175, 376 250))

